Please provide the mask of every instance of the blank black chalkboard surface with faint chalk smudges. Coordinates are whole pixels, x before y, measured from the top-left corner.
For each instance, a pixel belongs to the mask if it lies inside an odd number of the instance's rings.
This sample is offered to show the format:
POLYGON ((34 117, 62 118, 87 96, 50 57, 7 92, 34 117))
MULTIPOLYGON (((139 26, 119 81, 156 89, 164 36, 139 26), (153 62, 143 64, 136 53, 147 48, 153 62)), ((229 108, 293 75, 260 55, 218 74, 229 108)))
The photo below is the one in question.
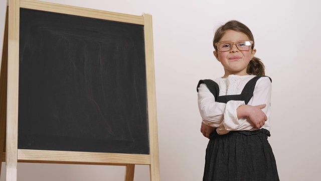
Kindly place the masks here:
POLYGON ((142 25, 20 9, 18 148, 149 154, 142 25))

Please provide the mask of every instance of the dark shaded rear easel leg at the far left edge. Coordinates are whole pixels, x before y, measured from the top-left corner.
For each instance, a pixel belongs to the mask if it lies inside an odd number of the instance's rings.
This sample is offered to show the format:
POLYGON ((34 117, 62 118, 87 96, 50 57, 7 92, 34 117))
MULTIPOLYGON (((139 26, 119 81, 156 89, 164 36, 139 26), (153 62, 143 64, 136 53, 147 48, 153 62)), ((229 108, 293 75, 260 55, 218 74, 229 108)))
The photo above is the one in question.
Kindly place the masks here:
MULTIPOLYGON (((6 140, 7 123, 7 76, 8 76, 8 7, 6 11, 6 23, 4 44, 2 51, 1 72, 0 72, 0 159, 3 161, 4 146, 6 140)), ((0 164, 0 177, 1 177, 0 164)))

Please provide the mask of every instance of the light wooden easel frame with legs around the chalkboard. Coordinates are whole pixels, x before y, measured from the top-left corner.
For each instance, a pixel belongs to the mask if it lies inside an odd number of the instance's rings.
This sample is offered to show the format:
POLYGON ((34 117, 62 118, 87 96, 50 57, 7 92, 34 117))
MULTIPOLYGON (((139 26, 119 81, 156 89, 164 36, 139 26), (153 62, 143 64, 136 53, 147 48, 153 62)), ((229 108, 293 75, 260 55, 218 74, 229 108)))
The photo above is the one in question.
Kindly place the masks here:
POLYGON ((151 15, 134 16, 34 0, 8 0, 0 86, 0 158, 6 161, 7 180, 17 180, 17 162, 121 165, 126 166, 125 180, 133 180, 135 164, 145 164, 150 166, 150 180, 160 180, 151 15), (18 149, 20 8, 144 26, 149 155, 18 149))

